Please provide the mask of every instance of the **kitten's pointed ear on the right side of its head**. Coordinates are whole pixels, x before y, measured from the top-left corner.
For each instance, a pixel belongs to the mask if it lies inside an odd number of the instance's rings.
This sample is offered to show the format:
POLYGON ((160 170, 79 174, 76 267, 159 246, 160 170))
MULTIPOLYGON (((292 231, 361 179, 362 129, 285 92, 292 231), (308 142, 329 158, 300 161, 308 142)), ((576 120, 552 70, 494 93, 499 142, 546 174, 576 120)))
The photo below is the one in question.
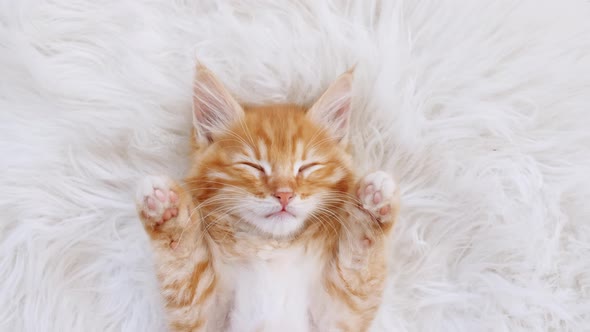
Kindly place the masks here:
POLYGON ((353 71, 340 75, 308 111, 310 118, 338 141, 348 137, 353 71))

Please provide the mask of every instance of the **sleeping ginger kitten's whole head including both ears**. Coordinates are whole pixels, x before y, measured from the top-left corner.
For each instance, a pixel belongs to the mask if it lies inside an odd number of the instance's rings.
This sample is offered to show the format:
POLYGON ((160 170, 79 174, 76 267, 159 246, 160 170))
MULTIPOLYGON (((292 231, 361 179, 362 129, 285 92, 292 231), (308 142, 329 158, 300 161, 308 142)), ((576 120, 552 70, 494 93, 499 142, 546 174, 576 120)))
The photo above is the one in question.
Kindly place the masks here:
POLYGON ((204 146, 197 161, 199 200, 274 237, 293 235, 306 221, 334 223, 353 181, 343 143, 350 78, 336 83, 309 110, 244 109, 200 69, 195 86, 196 137, 204 146))

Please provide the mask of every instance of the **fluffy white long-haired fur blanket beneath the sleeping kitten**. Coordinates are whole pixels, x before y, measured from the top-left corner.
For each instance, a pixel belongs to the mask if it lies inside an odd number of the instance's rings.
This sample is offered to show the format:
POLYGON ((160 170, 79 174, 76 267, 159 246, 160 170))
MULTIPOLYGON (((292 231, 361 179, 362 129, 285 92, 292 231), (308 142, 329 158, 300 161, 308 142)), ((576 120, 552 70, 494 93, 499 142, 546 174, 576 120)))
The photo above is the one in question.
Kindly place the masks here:
POLYGON ((133 195, 188 165, 191 77, 311 102, 403 202, 375 331, 590 328, 587 1, 0 1, 0 330, 161 331, 133 195))

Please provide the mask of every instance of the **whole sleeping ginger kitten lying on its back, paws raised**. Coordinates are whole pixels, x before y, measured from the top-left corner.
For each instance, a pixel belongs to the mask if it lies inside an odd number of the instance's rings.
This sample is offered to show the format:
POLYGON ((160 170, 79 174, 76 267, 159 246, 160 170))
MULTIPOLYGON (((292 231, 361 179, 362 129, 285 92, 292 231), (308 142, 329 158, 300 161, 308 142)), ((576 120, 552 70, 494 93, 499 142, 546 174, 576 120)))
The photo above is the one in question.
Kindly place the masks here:
POLYGON ((239 105, 197 67, 192 168, 136 204, 173 331, 366 331, 397 217, 392 177, 354 173, 352 72, 309 109, 239 105))

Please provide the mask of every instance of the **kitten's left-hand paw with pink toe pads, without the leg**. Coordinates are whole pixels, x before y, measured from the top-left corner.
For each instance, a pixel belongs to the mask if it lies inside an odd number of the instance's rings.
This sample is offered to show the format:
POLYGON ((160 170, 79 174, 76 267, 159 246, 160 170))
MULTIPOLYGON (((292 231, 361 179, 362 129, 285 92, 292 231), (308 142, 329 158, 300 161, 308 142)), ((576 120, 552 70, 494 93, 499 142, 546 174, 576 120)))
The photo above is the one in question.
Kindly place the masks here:
POLYGON ((178 193, 167 176, 148 176, 141 180, 135 201, 146 227, 163 225, 178 215, 178 193))

